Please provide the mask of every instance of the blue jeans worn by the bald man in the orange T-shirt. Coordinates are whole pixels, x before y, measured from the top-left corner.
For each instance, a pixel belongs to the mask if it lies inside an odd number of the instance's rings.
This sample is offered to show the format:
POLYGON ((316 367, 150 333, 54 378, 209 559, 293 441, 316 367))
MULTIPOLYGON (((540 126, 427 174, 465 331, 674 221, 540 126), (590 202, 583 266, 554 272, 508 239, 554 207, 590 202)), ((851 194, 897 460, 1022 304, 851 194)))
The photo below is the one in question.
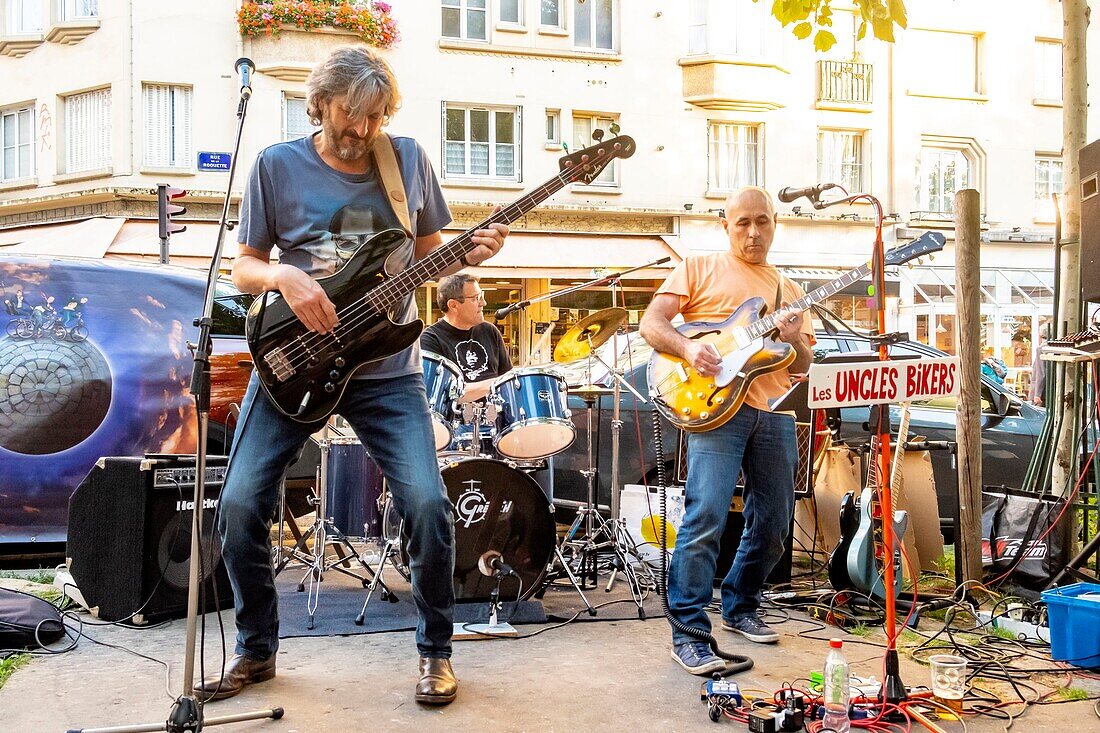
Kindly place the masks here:
MULTIPOLYGON (((688 436, 684 519, 669 567, 669 609, 680 623, 711 631, 718 545, 745 471, 745 533, 722 581, 722 615, 756 613, 765 579, 783 554, 794 511, 794 418, 743 406, 728 423, 688 436)), ((673 644, 696 641, 672 630, 673 644)))

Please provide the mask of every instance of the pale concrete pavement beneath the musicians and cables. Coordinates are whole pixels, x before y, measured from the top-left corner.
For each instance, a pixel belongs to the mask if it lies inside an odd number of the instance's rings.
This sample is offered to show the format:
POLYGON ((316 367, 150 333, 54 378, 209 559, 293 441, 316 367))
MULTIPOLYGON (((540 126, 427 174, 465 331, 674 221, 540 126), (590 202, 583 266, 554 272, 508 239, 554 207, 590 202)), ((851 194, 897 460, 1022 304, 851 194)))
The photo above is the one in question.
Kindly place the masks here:
MULTIPOLYGON (((86 614, 81 617, 92 621, 86 614)), ((207 616, 207 671, 220 663, 217 621, 215 614, 207 616)), ((221 621, 231 648, 232 611, 223 612, 221 621)), ((879 675, 881 649, 867 644, 873 643, 873 636, 860 638, 815 627, 815 622, 792 614, 777 626, 781 632, 778 645, 751 644, 729 632, 717 633, 725 650, 756 661, 751 670, 733 678, 743 689, 771 691, 805 678, 822 667, 828 636, 847 641, 853 674, 879 675)), ((525 625, 519 631, 529 634, 542 628, 547 626, 525 625)), ((173 699, 166 685, 177 692, 182 683, 184 622, 144 630, 86 625, 84 631, 100 644, 85 638, 67 654, 35 657, 0 688, 0 732, 141 723, 163 726, 173 699), (168 663, 170 679, 166 681, 162 665, 123 647, 168 663)), ((276 678, 207 705, 206 719, 274 707, 283 708, 285 715, 217 727, 208 724, 207 730, 746 730, 741 723, 707 719, 698 694, 702 679, 670 658, 669 627, 662 617, 574 623, 529 638, 457 642, 453 664, 460 678, 458 699, 444 708, 427 708, 413 700, 417 660, 411 632, 283 639, 276 678)), ((928 682, 927 668, 904 656, 902 677, 910 685, 928 682)), ((1091 694, 1097 693, 1100 687, 1091 689, 1091 694)), ((1100 730, 1093 704, 1033 707, 1018 730, 1100 730)), ((1004 721, 968 718, 967 726, 979 733, 1002 731, 1004 721)), ((914 724, 913 730, 923 729, 914 724)))

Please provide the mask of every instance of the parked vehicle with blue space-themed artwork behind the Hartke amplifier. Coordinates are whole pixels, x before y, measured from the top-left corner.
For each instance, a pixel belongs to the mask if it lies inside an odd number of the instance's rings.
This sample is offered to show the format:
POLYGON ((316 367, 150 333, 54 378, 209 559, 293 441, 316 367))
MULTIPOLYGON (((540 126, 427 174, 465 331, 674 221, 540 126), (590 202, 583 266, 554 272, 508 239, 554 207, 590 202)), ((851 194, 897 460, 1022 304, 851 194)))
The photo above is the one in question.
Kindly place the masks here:
MULTIPOLYGON (((182 267, 0 255, 0 551, 59 549, 69 496, 101 457, 195 452, 188 341, 205 285, 182 267)), ((248 305, 219 284, 211 453, 228 447, 252 370, 248 305)))

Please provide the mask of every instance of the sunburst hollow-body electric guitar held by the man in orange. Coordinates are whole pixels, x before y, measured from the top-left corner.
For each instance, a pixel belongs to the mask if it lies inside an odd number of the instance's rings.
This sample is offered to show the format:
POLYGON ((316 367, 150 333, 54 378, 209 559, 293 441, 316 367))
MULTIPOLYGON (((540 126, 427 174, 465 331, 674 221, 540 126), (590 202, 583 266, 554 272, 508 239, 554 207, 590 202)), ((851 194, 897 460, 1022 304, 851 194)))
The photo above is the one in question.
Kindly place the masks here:
MULTIPOLYGON (((887 265, 900 265, 944 249, 944 236, 925 232, 886 253, 887 265)), ((781 310, 763 315, 763 298, 749 298, 726 320, 696 321, 680 326, 682 335, 711 343, 722 359, 722 371, 704 376, 680 357, 654 351, 649 359, 649 391, 660 413, 689 433, 703 433, 725 425, 745 402, 752 380, 794 361, 794 348, 776 338, 780 314, 806 310, 871 273, 865 264, 822 285, 781 310)))

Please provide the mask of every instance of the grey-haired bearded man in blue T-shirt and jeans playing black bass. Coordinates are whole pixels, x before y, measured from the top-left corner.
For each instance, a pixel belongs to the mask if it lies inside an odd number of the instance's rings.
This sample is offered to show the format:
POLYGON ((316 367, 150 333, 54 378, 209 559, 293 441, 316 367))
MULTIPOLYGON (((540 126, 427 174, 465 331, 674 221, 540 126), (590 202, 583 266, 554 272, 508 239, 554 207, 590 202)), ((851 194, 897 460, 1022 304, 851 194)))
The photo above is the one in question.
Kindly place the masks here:
MULTIPOLYGON (((321 130, 272 145, 256 158, 241 203, 233 282, 246 293, 277 291, 309 330, 328 333, 340 319, 315 278, 334 272, 341 264, 340 251, 349 244, 362 245, 383 229, 400 228, 391 204, 391 198, 400 201, 400 192, 387 195, 375 160, 376 143, 380 150, 393 144, 411 228, 408 241, 389 258, 391 272, 440 245, 440 230, 451 214, 424 149, 409 138, 381 136, 400 96, 393 72, 380 56, 365 46, 337 48, 314 69, 306 86, 307 113, 321 130), (334 221, 343 222, 336 234, 330 231, 334 221), (278 263, 272 263, 276 248, 278 263)), ((464 264, 476 265, 496 254, 507 233, 503 225, 475 232, 477 248, 464 264)), ((397 322, 416 318, 414 297, 409 295, 392 316, 397 322)), ((337 412, 382 469, 405 519, 419 613, 416 700, 446 704, 458 691, 449 661, 453 525, 420 371, 416 344, 365 364, 349 383, 337 412)), ((218 518, 233 588, 237 648, 222 675, 196 686, 204 699, 232 697, 275 676, 278 609, 271 564, 272 517, 283 473, 319 428, 278 412, 253 374, 233 436, 218 518)))

